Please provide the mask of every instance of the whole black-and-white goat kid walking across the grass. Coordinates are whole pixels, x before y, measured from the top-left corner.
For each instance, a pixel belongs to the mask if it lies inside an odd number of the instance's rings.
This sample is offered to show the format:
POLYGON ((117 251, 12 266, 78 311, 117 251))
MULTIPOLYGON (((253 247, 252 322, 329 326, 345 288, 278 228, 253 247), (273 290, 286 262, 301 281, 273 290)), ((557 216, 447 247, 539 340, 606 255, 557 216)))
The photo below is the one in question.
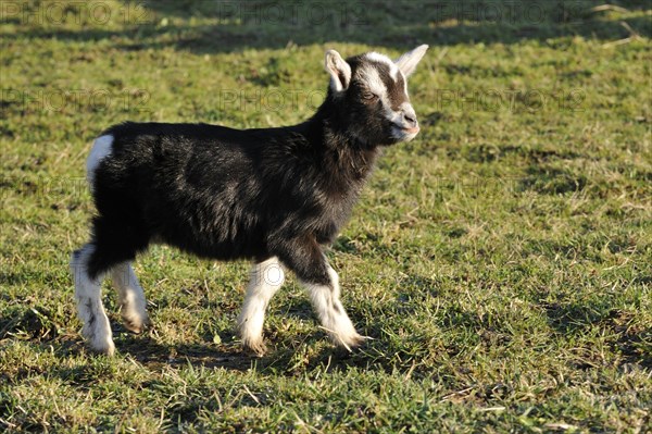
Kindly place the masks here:
POLYGON ((406 77, 427 48, 396 62, 375 52, 344 61, 327 51, 326 100, 296 126, 124 123, 106 129, 87 161, 97 208, 91 237, 71 262, 90 348, 115 350, 100 293, 106 275, 126 327, 146 326, 131 261, 152 243, 214 260, 253 260, 238 328, 242 345, 259 355, 265 310, 287 270, 308 288, 333 342, 360 345, 364 338, 342 307, 324 249, 349 218, 380 148, 418 133, 406 77))

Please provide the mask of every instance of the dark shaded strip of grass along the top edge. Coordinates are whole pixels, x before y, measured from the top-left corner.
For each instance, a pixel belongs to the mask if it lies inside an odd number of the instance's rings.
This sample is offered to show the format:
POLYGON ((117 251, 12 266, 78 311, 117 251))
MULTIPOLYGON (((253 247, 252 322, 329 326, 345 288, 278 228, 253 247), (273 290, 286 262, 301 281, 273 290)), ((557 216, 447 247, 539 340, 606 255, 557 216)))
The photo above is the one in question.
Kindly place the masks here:
MULTIPOLYGON (((652 37, 648 16, 606 20, 603 1, 486 2, 387 1, 365 2, 170 2, 139 3, 140 12, 125 30, 96 25, 71 29, 61 25, 33 26, 3 34, 12 39, 55 38, 105 41, 123 50, 174 48, 198 54, 279 49, 288 45, 346 42, 404 49, 416 44, 505 45, 523 40, 581 36, 617 40, 652 37), (598 8, 598 9, 595 9, 598 8), (140 14, 140 15, 138 15, 140 14), (184 20, 209 21, 192 27, 184 20)), ((620 1, 613 10, 644 10, 640 2, 620 1)), ((124 2, 131 4, 130 2, 124 2)), ((114 11, 118 13, 121 11, 114 11)), ((124 13, 124 11, 122 11, 124 13)), ((4 22, 15 22, 9 16, 4 22)), ((18 20, 20 22, 20 20, 18 20)))

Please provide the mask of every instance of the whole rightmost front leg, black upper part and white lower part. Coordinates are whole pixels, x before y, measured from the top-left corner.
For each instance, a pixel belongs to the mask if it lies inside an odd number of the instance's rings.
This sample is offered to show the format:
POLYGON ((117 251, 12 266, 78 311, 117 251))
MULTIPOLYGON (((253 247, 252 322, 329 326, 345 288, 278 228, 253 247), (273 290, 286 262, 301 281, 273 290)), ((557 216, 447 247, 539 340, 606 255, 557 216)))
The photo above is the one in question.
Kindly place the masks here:
POLYGON ((364 337, 358 334, 340 301, 339 277, 328 264, 322 248, 314 239, 296 240, 281 261, 291 269, 308 289, 322 327, 330 339, 349 351, 364 337))

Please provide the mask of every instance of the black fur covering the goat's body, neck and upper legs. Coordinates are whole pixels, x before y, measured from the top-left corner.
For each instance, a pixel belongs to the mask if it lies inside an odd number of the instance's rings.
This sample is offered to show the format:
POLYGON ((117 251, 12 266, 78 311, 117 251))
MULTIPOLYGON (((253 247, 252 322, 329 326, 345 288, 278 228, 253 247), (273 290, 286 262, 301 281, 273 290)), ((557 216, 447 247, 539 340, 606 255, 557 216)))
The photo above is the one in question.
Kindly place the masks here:
POLYGON ((276 256, 302 281, 329 284, 323 247, 349 218, 379 147, 398 141, 378 101, 361 99, 360 58, 348 62, 353 80, 346 94, 329 90, 300 125, 106 129, 113 151, 95 176, 89 275, 162 241, 217 260, 276 256))

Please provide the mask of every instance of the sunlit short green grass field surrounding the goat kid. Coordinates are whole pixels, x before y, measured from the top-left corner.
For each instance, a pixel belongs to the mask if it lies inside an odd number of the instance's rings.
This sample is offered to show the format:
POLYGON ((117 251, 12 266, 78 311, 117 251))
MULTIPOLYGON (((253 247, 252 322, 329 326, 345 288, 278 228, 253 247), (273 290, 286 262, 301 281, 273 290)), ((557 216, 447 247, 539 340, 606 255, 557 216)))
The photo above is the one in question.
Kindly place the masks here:
POLYGON ((1 2, 0 430, 652 432, 652 11, 604 3, 1 2), (418 44, 422 133, 329 252, 374 340, 335 350, 290 278, 249 357, 248 264, 158 246, 136 264, 150 330, 106 283, 118 354, 85 349, 68 258, 93 137, 298 123, 326 49, 418 44))

